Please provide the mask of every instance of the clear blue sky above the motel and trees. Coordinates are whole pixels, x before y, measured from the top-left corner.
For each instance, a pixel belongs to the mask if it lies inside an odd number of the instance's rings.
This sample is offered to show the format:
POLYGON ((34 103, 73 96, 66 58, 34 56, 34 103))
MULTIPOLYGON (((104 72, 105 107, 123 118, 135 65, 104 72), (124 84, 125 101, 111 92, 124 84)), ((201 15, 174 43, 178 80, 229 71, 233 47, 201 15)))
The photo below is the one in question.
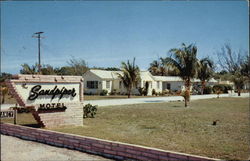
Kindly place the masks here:
POLYGON ((120 67, 136 58, 141 70, 171 48, 195 44, 198 58, 215 62, 225 43, 249 51, 248 3, 239 1, 1 1, 1 72, 21 64, 120 67))

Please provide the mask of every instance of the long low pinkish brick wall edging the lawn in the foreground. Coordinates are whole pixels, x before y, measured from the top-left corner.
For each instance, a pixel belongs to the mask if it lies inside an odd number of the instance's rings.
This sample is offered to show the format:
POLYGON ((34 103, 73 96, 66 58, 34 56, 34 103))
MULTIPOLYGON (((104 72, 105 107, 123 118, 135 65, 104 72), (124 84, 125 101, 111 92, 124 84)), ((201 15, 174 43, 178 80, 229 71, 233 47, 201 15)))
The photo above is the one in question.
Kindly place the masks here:
POLYGON ((164 151, 144 146, 112 142, 92 137, 65 134, 45 129, 1 123, 1 133, 26 140, 64 147, 116 160, 217 160, 213 158, 164 151))

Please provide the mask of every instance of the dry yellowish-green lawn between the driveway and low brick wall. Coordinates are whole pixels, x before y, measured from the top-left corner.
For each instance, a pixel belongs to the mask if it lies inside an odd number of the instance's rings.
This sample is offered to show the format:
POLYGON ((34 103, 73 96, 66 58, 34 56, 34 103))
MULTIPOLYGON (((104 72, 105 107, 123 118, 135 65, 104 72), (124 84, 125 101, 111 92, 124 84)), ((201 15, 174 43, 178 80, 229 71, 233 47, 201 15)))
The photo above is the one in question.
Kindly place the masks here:
MULTIPOLYGON (((83 127, 52 130, 226 160, 249 158, 248 98, 197 100, 190 108, 183 102, 109 106, 97 112, 83 127)), ((28 114, 22 115, 27 124, 28 114)))

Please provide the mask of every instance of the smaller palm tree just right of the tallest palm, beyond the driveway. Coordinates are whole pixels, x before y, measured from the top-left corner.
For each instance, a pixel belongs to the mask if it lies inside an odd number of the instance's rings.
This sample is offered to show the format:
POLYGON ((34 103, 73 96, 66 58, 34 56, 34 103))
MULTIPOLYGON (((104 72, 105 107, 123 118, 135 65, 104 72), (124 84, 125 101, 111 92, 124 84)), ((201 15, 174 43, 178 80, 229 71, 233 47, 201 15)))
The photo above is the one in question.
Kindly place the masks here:
POLYGON ((201 80, 202 85, 201 94, 203 94, 206 87, 206 81, 209 81, 209 79, 212 77, 213 71, 214 63, 211 59, 206 57, 199 61, 198 78, 201 80))

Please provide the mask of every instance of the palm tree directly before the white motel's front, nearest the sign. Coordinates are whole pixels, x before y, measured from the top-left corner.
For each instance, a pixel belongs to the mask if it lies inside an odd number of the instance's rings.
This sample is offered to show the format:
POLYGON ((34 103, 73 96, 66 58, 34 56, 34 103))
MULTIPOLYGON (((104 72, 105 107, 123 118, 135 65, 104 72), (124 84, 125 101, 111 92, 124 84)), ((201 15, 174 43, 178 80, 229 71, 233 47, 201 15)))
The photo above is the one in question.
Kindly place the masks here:
POLYGON ((122 80, 124 87, 127 89, 128 98, 130 98, 131 91, 133 87, 136 87, 138 81, 140 80, 140 69, 135 65, 135 58, 133 63, 130 63, 129 60, 127 63, 121 63, 122 74, 118 74, 118 77, 122 80))

